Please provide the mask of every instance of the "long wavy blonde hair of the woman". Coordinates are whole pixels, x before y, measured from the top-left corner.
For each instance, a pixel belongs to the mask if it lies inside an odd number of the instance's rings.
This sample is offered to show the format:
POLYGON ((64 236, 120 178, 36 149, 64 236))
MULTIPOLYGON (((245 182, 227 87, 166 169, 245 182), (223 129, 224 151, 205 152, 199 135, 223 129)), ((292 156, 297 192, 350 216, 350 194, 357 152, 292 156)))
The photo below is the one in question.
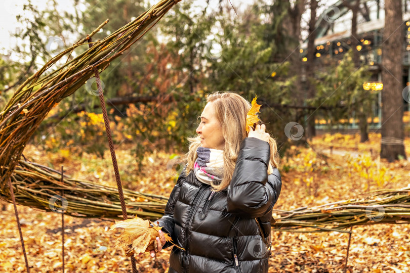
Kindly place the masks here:
MULTIPOLYGON (((245 131, 245 122, 248 111, 251 109, 251 103, 240 95, 233 92, 216 91, 206 95, 207 103, 214 104, 216 118, 222 126, 222 134, 225 139, 224 147, 224 176, 220 184, 211 182, 212 190, 219 192, 225 190, 232 179, 235 169, 236 159, 238 157, 240 145, 247 137, 245 131)), ((258 124, 263 124, 259 121, 258 124)), ((186 174, 193 170, 194 162, 198 157, 196 149, 201 145, 200 136, 193 138, 188 137, 190 142, 189 151, 184 155, 184 161, 187 162, 186 174)), ((273 167, 277 168, 278 162, 275 160, 277 146, 276 140, 269 136, 270 159, 268 164, 268 174, 273 172, 273 167), (273 166, 273 167, 272 167, 273 166)))

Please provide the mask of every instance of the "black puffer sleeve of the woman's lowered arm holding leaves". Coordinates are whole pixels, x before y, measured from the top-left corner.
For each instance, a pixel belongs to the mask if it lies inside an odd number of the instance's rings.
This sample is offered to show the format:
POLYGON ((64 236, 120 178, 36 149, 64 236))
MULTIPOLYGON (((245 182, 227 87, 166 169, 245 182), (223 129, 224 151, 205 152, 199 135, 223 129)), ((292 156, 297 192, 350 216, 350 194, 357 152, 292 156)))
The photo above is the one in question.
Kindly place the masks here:
MULTIPOLYGON (((168 233, 170 234, 172 241, 175 243, 176 242, 176 237, 174 234, 174 226, 175 226, 175 222, 174 222, 174 208, 175 208, 175 203, 178 200, 178 196, 179 196, 179 191, 181 189, 181 185, 183 183, 183 177, 186 176, 185 174, 185 170, 188 164, 185 165, 185 167, 183 168, 181 174, 178 177, 177 180, 177 184, 174 186, 174 189, 171 192, 170 198, 168 199, 168 203, 165 207, 165 211, 164 211, 164 215, 158 219, 155 220, 153 222, 159 222, 158 226, 162 226, 161 231, 163 231, 164 233, 168 233)), ((150 224, 152 226, 152 224, 150 224)), ((166 242, 165 245, 162 246, 162 249, 165 249, 167 247, 173 246, 172 243, 170 242, 166 242)))

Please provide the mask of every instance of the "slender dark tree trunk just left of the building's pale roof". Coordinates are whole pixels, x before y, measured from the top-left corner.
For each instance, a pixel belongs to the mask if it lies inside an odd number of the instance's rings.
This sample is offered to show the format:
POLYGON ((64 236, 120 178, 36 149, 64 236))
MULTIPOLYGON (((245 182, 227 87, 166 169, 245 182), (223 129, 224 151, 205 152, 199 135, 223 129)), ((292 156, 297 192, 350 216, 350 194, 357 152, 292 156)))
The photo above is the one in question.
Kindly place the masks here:
MULTIPOLYGON (((310 21, 309 21, 309 37, 308 37, 308 48, 307 48, 307 61, 306 61, 306 84, 308 88, 307 98, 314 98, 316 90, 313 84, 314 77, 314 60, 315 60, 315 37, 316 37, 316 9, 317 0, 310 0, 310 21)), ((315 112, 312 111, 308 118, 306 124, 306 135, 308 139, 311 139, 316 135, 315 130, 315 112)))

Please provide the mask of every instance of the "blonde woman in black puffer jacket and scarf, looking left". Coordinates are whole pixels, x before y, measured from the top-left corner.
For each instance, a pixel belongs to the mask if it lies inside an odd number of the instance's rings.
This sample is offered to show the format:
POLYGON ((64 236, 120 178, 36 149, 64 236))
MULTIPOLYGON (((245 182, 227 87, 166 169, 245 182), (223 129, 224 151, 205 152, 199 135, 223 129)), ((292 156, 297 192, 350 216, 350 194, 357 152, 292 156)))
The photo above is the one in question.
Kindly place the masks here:
MULTIPOLYGON (((157 220, 180 247, 171 251, 170 273, 268 272, 281 177, 265 125, 245 131, 250 109, 232 92, 207 97, 198 135, 188 138, 187 164, 157 220)), ((159 234, 158 251, 172 246, 159 234)))

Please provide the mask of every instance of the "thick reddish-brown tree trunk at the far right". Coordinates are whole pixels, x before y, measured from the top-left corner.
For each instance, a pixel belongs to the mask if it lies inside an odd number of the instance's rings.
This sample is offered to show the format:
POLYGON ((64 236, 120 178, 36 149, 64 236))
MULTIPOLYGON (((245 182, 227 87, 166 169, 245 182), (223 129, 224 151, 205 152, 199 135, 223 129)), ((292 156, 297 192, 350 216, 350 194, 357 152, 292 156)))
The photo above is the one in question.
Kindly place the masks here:
POLYGON ((402 156, 404 151, 402 47, 403 27, 401 1, 385 1, 385 25, 382 55, 382 143, 380 157, 389 162, 402 156), (397 80, 398 79, 398 80, 397 80))

